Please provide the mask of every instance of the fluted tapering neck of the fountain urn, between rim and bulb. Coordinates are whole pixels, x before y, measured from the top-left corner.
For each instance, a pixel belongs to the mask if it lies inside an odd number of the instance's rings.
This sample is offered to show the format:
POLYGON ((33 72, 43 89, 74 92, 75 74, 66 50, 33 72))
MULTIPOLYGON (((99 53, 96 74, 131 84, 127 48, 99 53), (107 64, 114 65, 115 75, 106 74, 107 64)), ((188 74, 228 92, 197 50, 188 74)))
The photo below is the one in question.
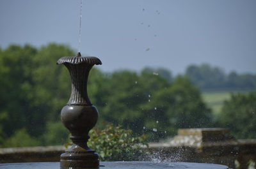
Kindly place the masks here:
POLYGON ((68 68, 72 81, 71 96, 67 105, 92 105, 87 94, 87 80, 93 65, 86 62, 64 65, 68 68))

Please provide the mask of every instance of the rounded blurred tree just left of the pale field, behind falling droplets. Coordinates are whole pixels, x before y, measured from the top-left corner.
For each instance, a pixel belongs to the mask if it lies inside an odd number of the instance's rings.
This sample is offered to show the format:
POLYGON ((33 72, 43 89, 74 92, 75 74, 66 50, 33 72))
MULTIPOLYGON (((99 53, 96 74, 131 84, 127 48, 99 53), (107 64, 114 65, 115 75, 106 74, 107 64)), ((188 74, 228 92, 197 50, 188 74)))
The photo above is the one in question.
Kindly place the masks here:
POLYGON ((212 119, 211 110, 205 106, 198 89, 188 78, 180 76, 154 93, 145 113, 145 131, 155 141, 175 135, 178 128, 210 126, 212 119))

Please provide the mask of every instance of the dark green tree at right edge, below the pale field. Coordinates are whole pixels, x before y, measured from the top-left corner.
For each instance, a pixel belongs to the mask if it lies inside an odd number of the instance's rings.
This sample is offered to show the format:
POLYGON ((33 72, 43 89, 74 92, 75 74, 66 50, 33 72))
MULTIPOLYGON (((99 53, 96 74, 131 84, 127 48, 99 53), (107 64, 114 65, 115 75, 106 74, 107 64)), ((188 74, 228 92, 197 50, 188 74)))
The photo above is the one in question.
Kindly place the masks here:
POLYGON ((218 121, 220 126, 230 128, 236 138, 256 138, 256 92, 232 94, 218 121))

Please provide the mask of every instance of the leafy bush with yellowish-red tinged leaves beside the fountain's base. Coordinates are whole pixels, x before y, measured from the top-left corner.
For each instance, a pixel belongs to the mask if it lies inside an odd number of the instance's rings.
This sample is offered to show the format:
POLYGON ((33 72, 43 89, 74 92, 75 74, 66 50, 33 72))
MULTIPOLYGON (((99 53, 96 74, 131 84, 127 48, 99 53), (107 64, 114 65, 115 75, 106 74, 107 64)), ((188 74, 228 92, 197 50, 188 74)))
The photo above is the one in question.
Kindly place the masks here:
MULTIPOLYGON (((131 129, 107 124, 102 130, 93 128, 89 135, 88 147, 99 153, 100 161, 139 161, 144 157, 145 135, 132 136, 131 129)), ((71 144, 69 140, 66 147, 71 144)))

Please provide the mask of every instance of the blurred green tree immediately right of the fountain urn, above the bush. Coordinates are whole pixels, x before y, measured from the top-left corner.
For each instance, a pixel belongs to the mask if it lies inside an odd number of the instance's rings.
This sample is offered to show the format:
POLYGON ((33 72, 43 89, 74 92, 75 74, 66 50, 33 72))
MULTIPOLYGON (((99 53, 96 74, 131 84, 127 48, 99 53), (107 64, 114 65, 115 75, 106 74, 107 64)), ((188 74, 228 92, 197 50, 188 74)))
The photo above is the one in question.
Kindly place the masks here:
POLYGON ((102 105, 99 107, 102 119, 124 128, 129 127, 141 135, 145 121, 143 107, 148 103, 148 96, 152 91, 167 85, 164 78, 152 74, 147 74, 147 77, 139 77, 131 71, 118 71, 106 77, 104 96, 101 97, 104 102, 99 104, 102 105))

